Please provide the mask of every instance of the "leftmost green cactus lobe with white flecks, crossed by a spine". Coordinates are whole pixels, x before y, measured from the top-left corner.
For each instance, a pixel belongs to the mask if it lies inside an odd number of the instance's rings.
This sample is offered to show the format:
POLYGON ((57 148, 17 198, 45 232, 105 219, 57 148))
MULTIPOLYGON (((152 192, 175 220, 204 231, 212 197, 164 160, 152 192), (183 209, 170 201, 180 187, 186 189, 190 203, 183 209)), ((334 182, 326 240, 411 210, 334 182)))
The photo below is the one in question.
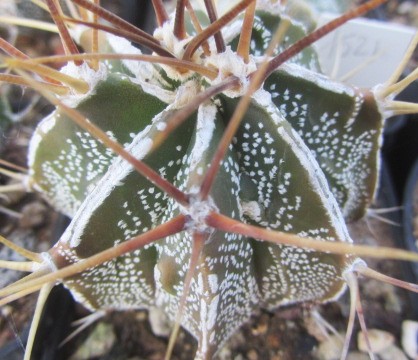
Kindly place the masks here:
MULTIPOLYGON (((125 76, 110 74, 77 109, 127 145, 164 105, 125 76), (109 97, 116 101, 98 105, 97 98, 109 97)), ((114 155, 69 119, 61 121, 61 117, 65 116, 57 110, 40 124, 32 139, 29 164, 36 190, 44 192, 54 207, 72 217, 106 173, 114 155)))

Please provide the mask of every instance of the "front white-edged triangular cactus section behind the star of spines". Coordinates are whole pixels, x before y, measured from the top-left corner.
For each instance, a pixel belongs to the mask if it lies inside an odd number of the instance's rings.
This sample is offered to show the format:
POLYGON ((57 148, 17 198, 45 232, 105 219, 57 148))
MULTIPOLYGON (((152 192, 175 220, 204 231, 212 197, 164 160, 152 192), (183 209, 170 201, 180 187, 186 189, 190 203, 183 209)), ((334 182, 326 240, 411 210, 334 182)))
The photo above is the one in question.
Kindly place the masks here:
MULTIPOLYGON (((245 115, 210 203, 243 222, 329 241, 351 241, 314 157, 266 96, 261 91, 245 115), (301 193, 306 184, 310 185, 301 193), (313 207, 317 211, 312 212, 313 207)), ((147 156, 152 135, 164 128, 165 117, 157 113, 128 149, 193 195, 235 105, 236 100, 228 97, 218 105, 202 105, 196 119, 147 156)), ((206 205, 198 204, 196 209, 206 205)), ((116 158, 51 251, 52 259, 59 267, 81 261, 180 212, 184 210, 176 202, 116 158)), ((191 223, 188 231, 83 272, 65 284, 92 310, 158 306, 174 318, 195 226, 191 223)), ((199 339, 202 354, 213 354, 260 302, 274 309, 338 297, 344 289, 342 272, 352 261, 215 231, 200 255, 182 324, 199 339)))

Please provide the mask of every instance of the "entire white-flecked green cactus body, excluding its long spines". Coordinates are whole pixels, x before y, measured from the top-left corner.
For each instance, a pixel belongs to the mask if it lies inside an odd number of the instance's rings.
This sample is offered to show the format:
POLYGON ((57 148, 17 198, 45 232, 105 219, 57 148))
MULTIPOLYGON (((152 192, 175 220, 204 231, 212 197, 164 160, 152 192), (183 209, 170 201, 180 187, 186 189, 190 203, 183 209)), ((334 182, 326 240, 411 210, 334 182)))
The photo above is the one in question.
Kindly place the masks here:
MULTIPOLYGON (((219 213, 265 229, 350 243, 346 222, 362 217, 373 199, 385 120, 381 100, 373 90, 321 75, 312 47, 273 71, 253 93, 208 196, 200 196, 214 153, 281 18, 290 21, 286 42, 305 36, 303 24, 281 10, 263 5, 256 11, 248 61, 236 50, 243 17, 223 28, 224 51, 209 39, 207 52, 199 47, 192 54, 190 62, 216 77, 132 60, 101 60, 97 69, 69 62, 61 70, 87 81, 89 90, 60 101, 174 184, 187 195, 186 203, 138 174, 60 107, 40 123, 30 144, 31 186, 72 217, 44 254, 53 269, 184 215, 182 231, 63 280, 92 311, 158 307, 175 320, 195 234, 203 235, 181 314, 181 325, 198 340, 197 358, 213 356, 260 307, 337 299, 345 290, 344 272, 360 261, 260 241, 233 229, 223 232, 206 220, 219 213), (154 146, 173 115, 232 77, 236 86, 201 102, 154 146)), ((179 40, 173 23, 166 21, 154 37, 181 59, 193 34, 179 40)), ((78 33, 82 43, 85 34, 78 33)), ((107 33, 100 47, 140 54, 128 40, 107 33)))

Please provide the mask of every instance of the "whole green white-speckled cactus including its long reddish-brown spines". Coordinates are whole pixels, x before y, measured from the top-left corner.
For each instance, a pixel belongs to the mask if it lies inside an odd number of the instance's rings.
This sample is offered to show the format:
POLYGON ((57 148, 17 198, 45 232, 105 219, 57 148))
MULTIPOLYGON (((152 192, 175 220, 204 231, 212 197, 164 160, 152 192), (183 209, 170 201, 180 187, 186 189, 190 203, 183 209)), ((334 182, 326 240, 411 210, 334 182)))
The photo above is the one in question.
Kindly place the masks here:
POLYGON ((162 309, 210 358, 260 307, 337 299, 367 273, 359 255, 416 261, 355 246, 346 227, 371 204, 385 119, 407 106, 392 96, 416 74, 353 88, 322 75, 310 46, 382 2, 307 35, 314 19, 279 2, 244 0, 217 19, 210 1, 205 14, 179 0, 170 16, 153 1, 151 36, 97 2, 73 0, 69 18, 47 0, 67 55, 3 43, 17 73, 3 80, 56 105, 26 183, 72 222, 1 303, 62 279, 92 311, 162 309), (63 59, 60 72, 44 64, 63 59))

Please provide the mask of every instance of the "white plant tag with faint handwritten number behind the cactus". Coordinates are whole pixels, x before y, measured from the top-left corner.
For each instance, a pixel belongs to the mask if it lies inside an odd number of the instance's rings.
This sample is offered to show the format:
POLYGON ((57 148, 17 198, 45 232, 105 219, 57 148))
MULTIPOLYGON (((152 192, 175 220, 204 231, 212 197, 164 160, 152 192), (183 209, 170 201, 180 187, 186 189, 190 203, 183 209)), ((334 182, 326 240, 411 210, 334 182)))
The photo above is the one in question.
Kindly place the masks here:
MULTIPOLYGON (((324 14, 321 26, 335 18, 324 14)), ((349 21, 316 42, 325 74, 359 87, 384 83, 402 61, 415 29, 369 19, 349 21)))

